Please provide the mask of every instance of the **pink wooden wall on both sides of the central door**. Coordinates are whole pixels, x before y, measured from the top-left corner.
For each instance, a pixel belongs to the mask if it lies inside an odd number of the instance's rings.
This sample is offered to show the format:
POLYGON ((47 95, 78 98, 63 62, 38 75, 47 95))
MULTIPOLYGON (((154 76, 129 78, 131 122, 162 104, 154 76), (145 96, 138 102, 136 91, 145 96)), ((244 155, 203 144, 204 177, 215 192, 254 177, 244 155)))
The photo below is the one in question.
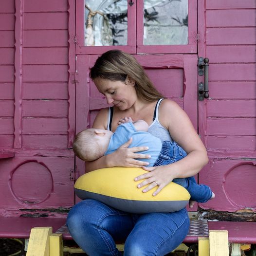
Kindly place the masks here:
MULTIPOLYGON (((0 0, 0 150, 16 153, 0 159, 0 216, 49 208, 57 216, 74 203, 70 3, 0 0)), ((210 163, 199 180, 217 194, 202 208, 256 208, 255 20, 255 0, 198 0, 198 53, 210 59, 210 98, 199 102, 210 163)))

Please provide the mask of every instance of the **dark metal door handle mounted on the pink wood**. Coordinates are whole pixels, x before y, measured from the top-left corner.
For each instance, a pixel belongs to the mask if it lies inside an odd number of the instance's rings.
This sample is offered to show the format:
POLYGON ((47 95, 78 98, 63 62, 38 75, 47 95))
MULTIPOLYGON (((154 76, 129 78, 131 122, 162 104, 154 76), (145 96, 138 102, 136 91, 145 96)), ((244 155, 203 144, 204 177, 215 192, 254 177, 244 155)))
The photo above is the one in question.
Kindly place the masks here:
POLYGON ((209 88, 208 88, 208 68, 209 68, 209 59, 200 57, 198 59, 198 74, 204 74, 204 83, 198 84, 198 99, 203 101, 204 99, 209 98, 209 88))

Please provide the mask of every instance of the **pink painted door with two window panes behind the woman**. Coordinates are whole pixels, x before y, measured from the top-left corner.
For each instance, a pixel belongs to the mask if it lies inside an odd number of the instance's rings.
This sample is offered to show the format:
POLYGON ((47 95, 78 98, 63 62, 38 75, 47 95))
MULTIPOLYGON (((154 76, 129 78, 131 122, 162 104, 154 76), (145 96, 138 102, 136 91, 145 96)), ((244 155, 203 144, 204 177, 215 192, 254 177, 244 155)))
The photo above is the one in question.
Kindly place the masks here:
MULTIPOLYGON (((83 1, 76 1, 76 24, 79 24, 76 27, 75 50, 79 80, 76 84, 76 132, 91 127, 97 112, 108 107, 106 99, 96 90, 90 79, 89 72, 97 57, 110 49, 122 49, 133 54, 157 89, 167 98, 176 101, 187 112, 197 130, 196 1, 167 1, 166 5, 163 1, 150 4, 152 1, 120 0, 115 6, 97 5, 96 2, 86 0, 84 8, 83 1), (118 11, 115 11, 114 7, 119 7, 118 11), (166 12, 170 8, 171 14, 166 12), (97 27, 100 26, 97 25, 100 17, 91 18, 90 10, 106 13, 112 30, 108 35, 111 38, 108 40, 114 45, 109 45, 110 42, 102 38, 108 30, 104 24, 100 29, 97 27), (109 13, 109 10, 112 13, 109 13), (127 33, 122 29, 127 29, 127 33), (99 35, 99 30, 105 32, 99 35), (164 33, 165 30, 168 33, 164 33), (90 41, 88 34, 94 36, 93 41, 90 41)), ((84 163, 77 158, 75 161, 78 175, 83 174, 84 163)), ((197 210, 197 205, 193 210, 197 210)))

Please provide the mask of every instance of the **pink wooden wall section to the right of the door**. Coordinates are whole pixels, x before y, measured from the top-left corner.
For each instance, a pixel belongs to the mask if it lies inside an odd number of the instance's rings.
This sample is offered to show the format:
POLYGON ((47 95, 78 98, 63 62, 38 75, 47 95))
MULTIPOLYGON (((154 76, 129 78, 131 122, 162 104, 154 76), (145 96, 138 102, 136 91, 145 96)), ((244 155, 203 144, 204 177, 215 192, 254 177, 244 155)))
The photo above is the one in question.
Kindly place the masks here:
POLYGON ((255 8, 255 1, 198 1, 198 15, 206 17, 198 23, 199 56, 210 60, 210 97, 199 102, 210 161, 199 182, 217 195, 200 204, 206 210, 256 211, 255 8))

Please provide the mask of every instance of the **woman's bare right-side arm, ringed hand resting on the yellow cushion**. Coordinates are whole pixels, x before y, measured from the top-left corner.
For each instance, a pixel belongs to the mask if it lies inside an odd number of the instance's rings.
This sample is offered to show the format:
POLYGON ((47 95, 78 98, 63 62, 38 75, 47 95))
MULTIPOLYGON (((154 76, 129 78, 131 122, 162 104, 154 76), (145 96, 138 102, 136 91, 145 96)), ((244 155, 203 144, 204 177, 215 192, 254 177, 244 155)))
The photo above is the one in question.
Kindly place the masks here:
POLYGON ((137 180, 146 179, 139 184, 140 187, 149 184, 144 192, 157 186, 157 183, 159 186, 154 194, 158 194, 175 178, 194 176, 208 163, 207 152, 201 139, 178 104, 164 100, 160 105, 159 120, 169 130, 173 140, 187 152, 187 156, 170 165, 144 168, 149 173, 137 177, 137 180))

